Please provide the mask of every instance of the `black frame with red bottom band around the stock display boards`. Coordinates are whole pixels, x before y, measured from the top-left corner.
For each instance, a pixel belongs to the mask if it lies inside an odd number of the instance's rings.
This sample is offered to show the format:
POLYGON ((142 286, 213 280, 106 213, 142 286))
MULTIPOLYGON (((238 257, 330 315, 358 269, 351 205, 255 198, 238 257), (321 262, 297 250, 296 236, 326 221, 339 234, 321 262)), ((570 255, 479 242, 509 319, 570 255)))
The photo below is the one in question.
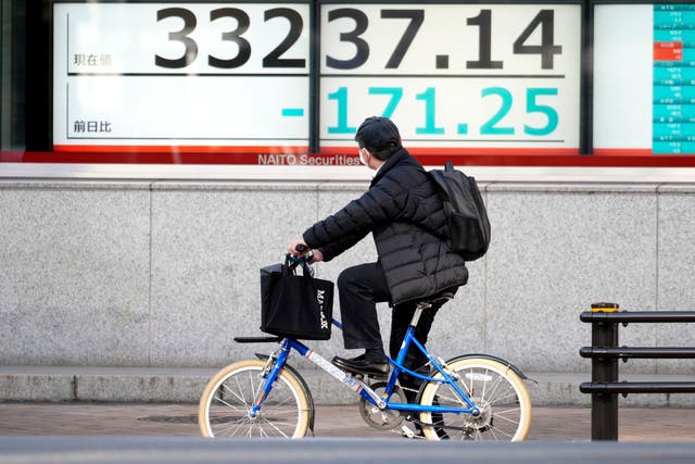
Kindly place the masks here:
MULTIPOLYGON (((54 4, 61 3, 87 3, 88 1, 71 1, 71 0, 54 0, 54 1, 43 1, 43 4, 48 4, 50 8, 50 13, 48 16, 52 24, 52 9, 54 4)), ((106 0, 100 3, 123 3, 117 0, 106 0)), ((128 3, 155 3, 148 0, 131 0, 128 3)), ((172 3, 173 5, 185 4, 187 2, 182 1, 170 1, 170 2, 161 2, 161 3, 172 3)), ((220 1, 220 0, 208 0, 204 3, 225 3, 229 4, 229 2, 220 1)), ((239 2, 243 3, 271 3, 271 4, 282 4, 287 2, 269 0, 265 2, 239 2)), ((296 1, 293 3, 304 3, 302 1, 296 1)), ((340 0, 313 0, 309 1, 311 8, 311 18, 309 18, 309 27, 312 29, 312 34, 315 37, 319 37, 320 34, 320 9, 326 5, 331 4, 340 4, 345 3, 340 0)), ((354 5, 361 4, 420 4, 422 2, 416 1, 367 1, 367 0, 357 0, 354 2, 350 2, 354 5)), ((572 0, 568 2, 563 1, 475 1, 475 2, 460 2, 460 1, 446 1, 441 0, 438 1, 437 4, 467 4, 467 5, 476 5, 476 4, 490 4, 490 5, 505 5, 505 4, 514 4, 514 5, 529 5, 529 4, 548 4, 548 5, 565 5, 565 4, 573 4, 579 5, 581 10, 581 65, 580 65, 580 101, 579 101, 579 151, 576 154, 540 154, 540 153, 522 153, 522 154, 507 154, 495 152, 495 150, 478 150, 477 152, 466 152, 465 154, 460 154, 456 161, 457 164, 460 165, 480 165, 480 166, 508 166, 508 165, 519 165, 519 166, 695 166, 695 156, 692 155, 671 155, 671 154, 660 154, 654 155, 650 153, 630 153, 630 154, 616 154, 616 153, 605 153, 605 152, 596 152, 594 150, 594 102, 593 102, 593 91, 594 91, 594 70, 593 70, 593 39, 594 39, 594 13, 595 8, 597 5, 603 4, 616 4, 616 5, 644 5, 644 4, 680 4, 685 3, 688 4, 687 0, 671 0, 671 1, 645 1, 645 0, 572 0)), ((429 4, 429 3, 428 3, 429 4)), ((49 47, 48 59, 42 60, 45 63, 41 67, 46 68, 49 74, 51 74, 50 70, 52 70, 52 34, 49 35, 49 41, 51 47, 49 47), (48 63, 46 63, 48 61, 48 63)), ((35 43, 36 45, 36 43, 35 43)), ((27 53, 29 52, 28 47, 30 45, 27 43, 27 53)), ((317 40, 313 40, 312 48, 319 47, 317 40)), ((34 50, 38 50, 38 47, 34 47, 34 50)), ((39 59, 41 58, 38 54, 39 59)), ((319 124, 318 114, 320 109, 318 108, 318 99, 315 98, 320 91, 320 51, 309 53, 309 106, 308 106, 308 120, 309 120, 309 137, 308 137, 308 151, 306 154, 312 158, 324 158, 330 159, 334 158, 334 153, 326 153, 321 152, 324 148, 320 146, 320 135, 319 135, 319 124)), ((39 60, 41 61, 41 60, 39 60)), ((36 66, 34 66, 36 68, 36 66)), ((30 86, 28 86, 30 87, 30 86)), ((52 104, 52 87, 53 83, 50 79, 51 89, 48 91, 51 95, 51 101, 47 102, 45 109, 48 113, 52 115, 53 104, 52 104)), ((31 93, 31 89, 27 89, 27 96, 31 93)), ((38 100, 36 97, 33 99, 35 102, 38 100)), ((49 117, 50 118, 50 117, 49 117)), ((28 123, 27 123, 28 125, 28 123)), ((258 153, 233 153, 232 150, 229 150, 224 147, 212 147, 205 151, 195 151, 195 150, 181 150, 180 147, 172 147, 170 150, 165 151, 156 151, 156 150, 138 150, 125 148, 119 151, 101 151, 94 150, 90 151, 86 150, 66 150, 66 151, 55 151, 52 145, 52 123, 49 124, 47 130, 42 130, 48 133, 42 135, 41 137, 35 137, 35 139, 39 139, 38 145, 36 142, 27 143, 26 151, 1 151, 0 152, 0 162, 25 162, 25 163, 118 163, 118 164, 228 164, 228 165, 257 165, 258 164, 258 153), (244 158, 245 156, 245 158, 244 158)), ((407 140, 406 140, 407 141, 407 140)), ((454 149, 455 150, 455 149, 454 149)), ((415 149, 417 156, 424 156, 427 153, 417 153, 417 149, 415 149)), ((281 153, 280 153, 281 154, 281 153)), ((441 164, 446 159, 451 158, 451 153, 441 153, 434 156, 428 158, 427 161, 432 164, 441 164)), ((273 161, 270 163, 266 163, 273 165, 273 161)), ((282 161, 278 162, 278 164, 283 164, 282 161)), ((318 164, 318 163, 317 163, 318 164)))

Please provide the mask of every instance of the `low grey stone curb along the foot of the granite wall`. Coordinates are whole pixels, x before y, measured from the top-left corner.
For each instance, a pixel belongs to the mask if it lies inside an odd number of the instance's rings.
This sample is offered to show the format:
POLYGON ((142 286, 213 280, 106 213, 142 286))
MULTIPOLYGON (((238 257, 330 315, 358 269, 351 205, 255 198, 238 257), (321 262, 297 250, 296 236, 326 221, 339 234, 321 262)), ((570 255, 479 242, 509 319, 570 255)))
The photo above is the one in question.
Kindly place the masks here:
MULTIPOLYGON (((0 401, 90 401, 197 403, 217 368, 0 366, 0 401)), ((300 369, 316 404, 352 404, 349 388, 318 369, 300 369)), ((529 373, 527 387, 534 405, 589 405, 591 396, 579 391, 590 373, 529 373)), ((675 375, 626 375, 626 379, 682 380, 675 375)), ((692 376, 688 377, 692 380, 692 376)), ((694 394, 630 394, 627 406, 695 407, 694 394)))

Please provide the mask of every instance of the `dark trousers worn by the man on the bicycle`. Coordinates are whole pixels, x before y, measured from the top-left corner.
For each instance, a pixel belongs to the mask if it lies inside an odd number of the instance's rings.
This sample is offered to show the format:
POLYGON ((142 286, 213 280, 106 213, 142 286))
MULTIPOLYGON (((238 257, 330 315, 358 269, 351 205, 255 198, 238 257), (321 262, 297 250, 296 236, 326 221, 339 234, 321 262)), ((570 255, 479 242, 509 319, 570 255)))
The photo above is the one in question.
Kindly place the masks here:
MULTIPOLYGON (((383 269, 379 263, 359 264, 348 267, 338 276, 340 315, 343 324, 343 340, 346 349, 383 347, 377 303, 390 302, 391 292, 383 269)), ((389 354, 392 359, 401 351, 405 333, 413 319, 415 303, 393 306, 391 312, 391 338, 389 354)), ((425 344, 432 327, 437 309, 422 312, 415 327, 415 337, 425 344)), ((412 346, 406 355, 405 366, 417 369, 427 363, 427 358, 412 346)), ((427 372, 427 371, 426 371, 427 372)), ((402 384, 410 384, 408 376, 401 377, 402 384)), ((415 385, 413 384, 413 387, 415 385)))

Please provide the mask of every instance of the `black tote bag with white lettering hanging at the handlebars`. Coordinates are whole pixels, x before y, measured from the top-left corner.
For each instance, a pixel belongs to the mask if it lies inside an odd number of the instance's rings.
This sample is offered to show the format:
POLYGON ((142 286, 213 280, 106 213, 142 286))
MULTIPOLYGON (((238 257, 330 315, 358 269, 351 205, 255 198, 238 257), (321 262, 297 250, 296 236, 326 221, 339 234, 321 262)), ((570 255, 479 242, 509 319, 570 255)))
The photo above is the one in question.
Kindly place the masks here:
POLYGON ((312 277, 308 265, 274 264, 261 269, 261 330, 305 340, 328 340, 333 315, 333 283, 312 277))

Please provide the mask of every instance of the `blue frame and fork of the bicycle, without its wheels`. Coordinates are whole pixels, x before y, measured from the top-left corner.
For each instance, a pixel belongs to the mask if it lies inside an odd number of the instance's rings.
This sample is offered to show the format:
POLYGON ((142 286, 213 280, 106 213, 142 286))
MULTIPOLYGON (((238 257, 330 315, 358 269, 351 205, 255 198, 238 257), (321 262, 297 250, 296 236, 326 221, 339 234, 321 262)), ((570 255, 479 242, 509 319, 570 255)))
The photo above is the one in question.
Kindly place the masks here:
MULTIPOLYGON (((419 314, 421 313, 421 311, 422 311, 421 308, 418 308, 418 310, 416 311, 416 316, 413 318, 414 322, 410 323, 410 325, 408 326, 408 329, 406 330, 405 337, 403 339, 403 343, 401 346, 401 351, 399 351, 399 355, 396 360, 393 361, 391 358, 389 358, 389 362, 393 365, 393 372, 389 377, 383 394, 381 396, 377 394, 371 388, 369 388, 369 386, 364 384, 362 380, 336 367, 333 364, 331 364, 325 358, 320 356, 318 353, 315 353, 312 349, 309 349, 307 346, 305 346, 301 341, 294 340, 291 338, 286 338, 281 341, 280 349, 276 351, 277 358, 275 358, 275 362, 271 363, 271 368, 268 372, 265 384, 263 385, 263 389, 260 391, 258 396, 255 399, 254 405, 251 410, 251 415, 255 416, 261 411, 261 407, 263 406, 263 402, 268 397, 268 394, 270 394, 273 385, 275 384, 275 380, 277 379, 282 367, 285 367, 285 364, 287 363, 287 359, 289 358, 290 352, 292 350, 298 351, 301 355, 312 361, 318 367, 328 372, 330 375, 336 377, 342 384, 345 384, 348 387, 354 390, 357 394, 359 394, 366 401, 368 401, 369 403, 376 405, 381 410, 479 415, 480 410, 470 400, 468 394, 466 394, 466 392, 459 387, 459 385, 456 383, 456 379, 450 376, 446 373, 445 368, 437 360, 434 360, 434 358, 432 358, 432 355, 427 351, 427 349, 422 346, 422 343, 420 343, 417 340, 417 338, 415 338, 415 325, 416 325, 415 322, 419 317, 419 314), (441 378, 422 375, 403 366, 403 363, 405 361, 405 355, 412 344, 415 344, 415 347, 418 350, 420 350, 422 354, 427 356, 427 359, 432 364, 437 373, 441 375, 441 378), (440 384, 447 384, 459 396, 459 398, 467 405, 467 407, 464 407, 463 404, 459 407, 454 407, 454 406, 441 406, 435 404, 421 405, 417 403, 402 403, 402 402, 390 401, 391 396, 395 391, 395 383, 401 373, 406 373, 424 381, 435 381, 440 384)), ((332 322, 336 327, 342 329, 342 325, 340 324, 340 322, 336 319, 333 319, 332 322)), ((274 355, 271 355, 271 358, 274 355)))

